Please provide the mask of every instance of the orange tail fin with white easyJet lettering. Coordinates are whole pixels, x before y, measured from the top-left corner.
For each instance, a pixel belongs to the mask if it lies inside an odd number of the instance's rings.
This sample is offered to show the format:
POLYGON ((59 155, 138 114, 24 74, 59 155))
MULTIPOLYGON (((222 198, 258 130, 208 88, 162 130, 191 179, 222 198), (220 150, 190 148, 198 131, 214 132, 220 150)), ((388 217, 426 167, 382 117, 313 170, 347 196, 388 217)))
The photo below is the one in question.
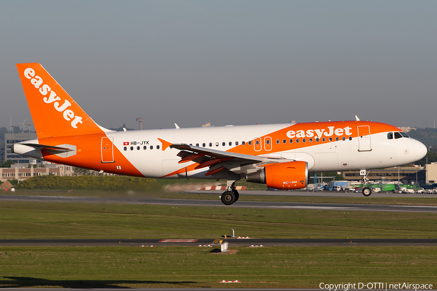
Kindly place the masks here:
POLYGON ((38 138, 110 131, 95 123, 40 64, 17 64, 38 138))

